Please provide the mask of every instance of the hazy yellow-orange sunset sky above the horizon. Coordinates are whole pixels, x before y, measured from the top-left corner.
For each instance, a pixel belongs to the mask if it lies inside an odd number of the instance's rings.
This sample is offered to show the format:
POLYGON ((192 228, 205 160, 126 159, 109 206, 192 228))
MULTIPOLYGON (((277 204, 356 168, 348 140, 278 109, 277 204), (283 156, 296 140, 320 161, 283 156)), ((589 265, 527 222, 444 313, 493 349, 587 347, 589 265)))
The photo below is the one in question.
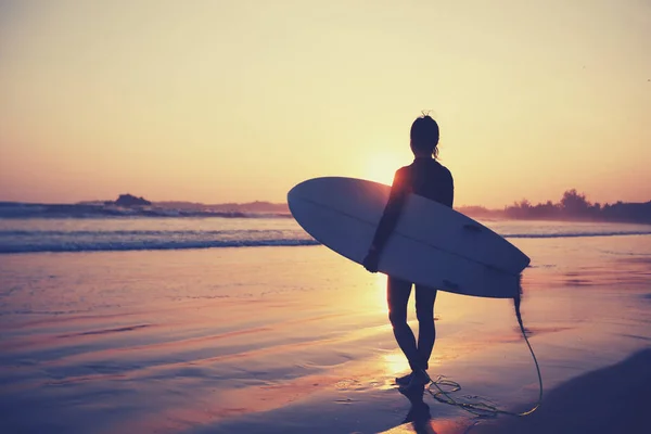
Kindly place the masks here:
POLYGON ((0 201, 390 183, 421 111, 456 205, 651 200, 650 0, 0 0, 0 201))

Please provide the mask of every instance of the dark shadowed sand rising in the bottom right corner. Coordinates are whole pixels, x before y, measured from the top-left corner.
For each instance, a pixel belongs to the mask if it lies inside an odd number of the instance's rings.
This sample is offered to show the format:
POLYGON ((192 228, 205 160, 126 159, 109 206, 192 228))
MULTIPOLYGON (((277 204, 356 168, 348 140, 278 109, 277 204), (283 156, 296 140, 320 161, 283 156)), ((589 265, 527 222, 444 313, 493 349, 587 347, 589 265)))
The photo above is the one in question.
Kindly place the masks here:
MULTIPOLYGON (((542 405, 526 417, 436 420, 432 419, 433 406, 429 405, 427 410, 420 410, 420 420, 416 416, 414 421, 385 431, 385 434, 646 433, 649 430, 649 396, 651 349, 644 349, 620 363, 569 380, 548 392, 542 405)), ((418 413, 418 407, 414 410, 418 413)))

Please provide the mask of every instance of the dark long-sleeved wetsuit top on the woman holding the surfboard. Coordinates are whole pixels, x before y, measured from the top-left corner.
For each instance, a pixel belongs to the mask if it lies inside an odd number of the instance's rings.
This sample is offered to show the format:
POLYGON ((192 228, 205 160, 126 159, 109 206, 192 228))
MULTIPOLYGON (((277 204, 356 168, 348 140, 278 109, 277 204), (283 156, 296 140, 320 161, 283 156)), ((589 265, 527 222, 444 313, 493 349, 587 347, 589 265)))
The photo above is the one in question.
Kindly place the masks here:
POLYGON ((380 219, 372 246, 384 247, 388 235, 396 227, 403 205, 409 193, 418 194, 443 205, 452 207, 455 184, 452 174, 431 157, 418 157, 409 166, 399 168, 391 187, 388 202, 380 219))

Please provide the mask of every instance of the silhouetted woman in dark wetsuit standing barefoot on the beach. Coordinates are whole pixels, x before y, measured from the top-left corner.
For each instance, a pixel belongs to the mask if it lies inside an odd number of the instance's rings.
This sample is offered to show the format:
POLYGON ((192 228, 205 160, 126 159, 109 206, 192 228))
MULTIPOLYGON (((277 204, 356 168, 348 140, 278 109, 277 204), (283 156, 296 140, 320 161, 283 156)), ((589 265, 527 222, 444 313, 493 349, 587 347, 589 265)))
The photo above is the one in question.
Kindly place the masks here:
MULTIPOLYGON (((432 201, 452 207, 454 182, 450 171, 437 162, 438 124, 429 115, 413 122, 410 132, 413 163, 396 171, 384 214, 380 219, 375 237, 363 260, 371 272, 378 271, 382 248, 393 232, 409 193, 419 194, 432 201)), ((435 224, 435 222, 433 222, 435 224)), ((430 383, 429 360, 434 348, 434 302, 436 289, 416 285, 416 316, 419 323, 418 342, 407 323, 407 302, 412 282, 388 277, 386 299, 388 319, 396 341, 407 357, 411 373, 396 379, 403 392, 416 391, 430 383)))

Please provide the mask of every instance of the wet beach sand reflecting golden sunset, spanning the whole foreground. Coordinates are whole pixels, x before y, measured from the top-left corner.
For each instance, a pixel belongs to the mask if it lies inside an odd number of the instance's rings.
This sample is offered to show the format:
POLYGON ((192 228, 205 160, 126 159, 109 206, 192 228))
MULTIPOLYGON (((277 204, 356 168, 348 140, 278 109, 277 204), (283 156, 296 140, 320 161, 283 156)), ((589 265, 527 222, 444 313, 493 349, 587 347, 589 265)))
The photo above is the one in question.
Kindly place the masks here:
MULTIPOLYGON (((644 432, 648 237, 516 244, 546 388, 529 417, 477 420, 425 394, 430 417, 403 423, 385 278, 322 246, 250 247, 4 255, 0 432, 644 432)), ((512 302, 439 293, 430 374, 455 396, 536 403, 512 302)))

